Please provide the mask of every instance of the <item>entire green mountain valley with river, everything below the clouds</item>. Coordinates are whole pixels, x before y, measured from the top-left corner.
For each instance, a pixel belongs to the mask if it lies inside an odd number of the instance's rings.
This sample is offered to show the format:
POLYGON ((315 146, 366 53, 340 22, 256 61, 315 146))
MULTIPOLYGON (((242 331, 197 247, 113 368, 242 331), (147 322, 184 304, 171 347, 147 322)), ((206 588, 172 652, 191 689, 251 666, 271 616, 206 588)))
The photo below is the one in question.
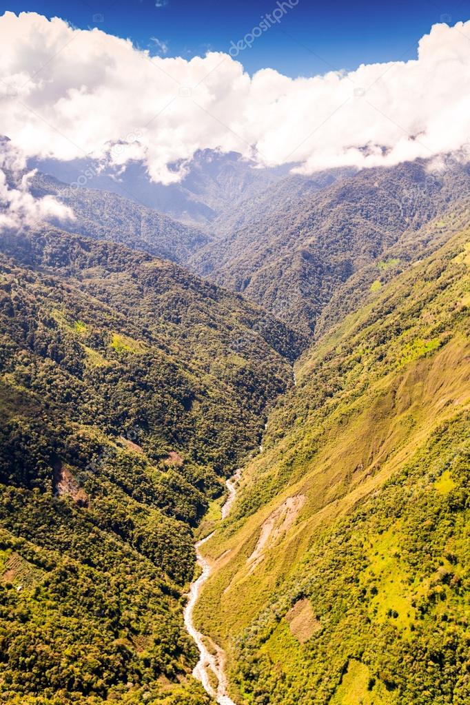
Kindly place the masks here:
POLYGON ((468 167, 209 157, 0 231, 1 692, 465 705, 468 167))

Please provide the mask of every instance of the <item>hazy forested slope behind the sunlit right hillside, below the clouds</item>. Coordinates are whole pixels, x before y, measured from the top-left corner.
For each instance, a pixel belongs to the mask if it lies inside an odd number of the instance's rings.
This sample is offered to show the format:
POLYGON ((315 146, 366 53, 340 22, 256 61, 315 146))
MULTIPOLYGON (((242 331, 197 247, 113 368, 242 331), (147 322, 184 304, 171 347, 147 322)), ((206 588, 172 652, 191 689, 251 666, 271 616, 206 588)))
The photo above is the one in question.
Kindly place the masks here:
POLYGON ((245 202, 235 229, 190 258, 192 270, 311 335, 343 283, 470 195, 467 167, 455 160, 440 171, 424 161, 342 171, 328 185, 333 176, 290 177, 245 202))

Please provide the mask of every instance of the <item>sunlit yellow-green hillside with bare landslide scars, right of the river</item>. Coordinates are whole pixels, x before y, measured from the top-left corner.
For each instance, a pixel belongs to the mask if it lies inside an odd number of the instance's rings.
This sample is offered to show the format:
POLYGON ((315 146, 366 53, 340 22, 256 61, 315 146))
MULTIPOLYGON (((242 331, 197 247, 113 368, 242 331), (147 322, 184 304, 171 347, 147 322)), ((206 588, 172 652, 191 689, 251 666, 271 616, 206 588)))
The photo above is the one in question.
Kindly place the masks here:
POLYGON ((469 702, 469 253, 376 288, 271 414, 204 546, 237 704, 469 702))

